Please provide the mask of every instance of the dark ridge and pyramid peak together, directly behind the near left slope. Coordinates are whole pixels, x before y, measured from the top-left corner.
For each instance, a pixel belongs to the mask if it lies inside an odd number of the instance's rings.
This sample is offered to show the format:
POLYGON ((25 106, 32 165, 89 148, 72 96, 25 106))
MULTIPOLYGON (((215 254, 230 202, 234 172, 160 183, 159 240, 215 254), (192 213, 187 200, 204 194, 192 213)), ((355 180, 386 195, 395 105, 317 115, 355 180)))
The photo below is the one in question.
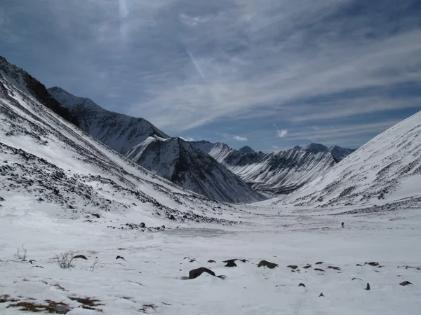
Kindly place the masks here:
POLYGON ((79 120, 82 130, 182 188, 222 202, 265 199, 209 155, 181 138, 171 138, 143 118, 107 111, 60 87, 48 92, 79 120))

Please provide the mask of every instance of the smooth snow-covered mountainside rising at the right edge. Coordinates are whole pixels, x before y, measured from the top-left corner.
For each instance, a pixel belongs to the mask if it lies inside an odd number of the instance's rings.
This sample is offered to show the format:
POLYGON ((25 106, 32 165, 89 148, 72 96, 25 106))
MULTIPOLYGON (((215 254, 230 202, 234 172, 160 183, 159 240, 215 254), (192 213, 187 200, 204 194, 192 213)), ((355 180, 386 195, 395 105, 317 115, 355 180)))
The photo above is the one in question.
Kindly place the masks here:
POLYGON ((420 202, 420 135, 421 112, 378 135, 319 179, 276 202, 302 207, 420 202))

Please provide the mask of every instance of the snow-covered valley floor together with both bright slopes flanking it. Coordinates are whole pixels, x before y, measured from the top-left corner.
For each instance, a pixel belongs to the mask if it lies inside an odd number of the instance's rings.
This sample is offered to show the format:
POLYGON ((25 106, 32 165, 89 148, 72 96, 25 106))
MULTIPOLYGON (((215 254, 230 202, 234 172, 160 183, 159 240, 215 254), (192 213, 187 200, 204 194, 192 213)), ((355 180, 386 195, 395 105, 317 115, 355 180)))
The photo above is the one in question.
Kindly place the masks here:
POLYGON ((300 205, 233 206, 143 169, 21 87, 0 71, 1 315, 420 314, 420 116, 349 155, 320 191, 289 196, 300 205), (367 181, 333 202, 345 171, 367 181), (199 267, 224 279, 189 279, 199 267))

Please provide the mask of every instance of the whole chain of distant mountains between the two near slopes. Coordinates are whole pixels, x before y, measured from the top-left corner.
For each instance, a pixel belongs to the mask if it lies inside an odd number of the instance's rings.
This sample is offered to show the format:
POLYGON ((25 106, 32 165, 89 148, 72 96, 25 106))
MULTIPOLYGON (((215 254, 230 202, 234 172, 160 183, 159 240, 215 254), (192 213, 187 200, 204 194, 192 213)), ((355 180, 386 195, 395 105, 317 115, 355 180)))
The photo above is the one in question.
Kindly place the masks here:
POLYGON ((262 200, 254 190, 267 196, 293 192, 354 151, 309 144, 262 153, 249 146, 234 150, 219 142, 187 142, 171 138, 145 119, 107 111, 60 87, 48 92, 69 109, 83 130, 110 148, 185 189, 225 202, 262 200))

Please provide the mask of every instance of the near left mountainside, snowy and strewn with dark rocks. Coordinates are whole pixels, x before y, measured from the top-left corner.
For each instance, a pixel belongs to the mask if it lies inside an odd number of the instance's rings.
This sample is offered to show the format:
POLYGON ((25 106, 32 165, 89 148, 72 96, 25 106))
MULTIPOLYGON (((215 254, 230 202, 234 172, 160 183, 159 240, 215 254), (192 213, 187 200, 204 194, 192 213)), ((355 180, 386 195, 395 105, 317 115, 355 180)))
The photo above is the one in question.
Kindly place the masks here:
POLYGON ((109 217, 114 228, 123 222, 107 213, 126 220, 123 214, 131 211, 137 223, 227 222, 218 216, 229 205, 182 190, 136 165, 10 78, 0 73, 1 197, 46 207, 63 218, 109 217))

